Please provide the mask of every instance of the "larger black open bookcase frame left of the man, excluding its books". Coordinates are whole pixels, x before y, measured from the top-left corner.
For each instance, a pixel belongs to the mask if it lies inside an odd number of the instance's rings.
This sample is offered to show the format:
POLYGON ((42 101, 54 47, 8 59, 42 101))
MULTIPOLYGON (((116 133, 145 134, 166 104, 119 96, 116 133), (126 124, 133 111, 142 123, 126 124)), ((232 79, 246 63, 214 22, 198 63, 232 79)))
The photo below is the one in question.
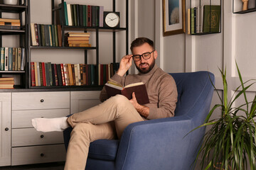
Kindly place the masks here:
MULTIPOLYGON (((112 11, 116 11, 116 2, 115 0, 111 0, 112 1, 112 11)), ((99 50, 100 50, 100 43, 99 43, 99 36, 100 36, 100 32, 107 32, 112 34, 112 51, 113 51, 113 57, 112 60, 109 63, 115 63, 116 62, 116 33, 120 32, 120 31, 125 31, 125 46, 126 46, 126 54, 128 54, 129 52, 129 47, 128 47, 128 0, 126 0, 124 2, 125 4, 125 12, 122 12, 122 15, 125 15, 126 19, 125 19, 125 27, 123 28, 105 28, 105 27, 99 27, 99 26, 65 26, 65 21, 64 19, 60 21, 60 23, 57 23, 56 21, 56 17, 58 17, 57 13, 59 11, 61 11, 60 13, 62 13, 62 18, 65 18, 64 16, 64 0, 61 0, 60 5, 56 6, 55 4, 55 0, 51 0, 51 11, 52 11, 52 16, 51 16, 51 24, 52 25, 57 25, 60 24, 61 25, 61 32, 62 32, 62 46, 61 47, 46 47, 46 46, 32 46, 31 42, 29 42, 28 45, 28 53, 29 56, 28 57, 28 89, 63 89, 63 91, 66 90, 70 90, 70 89, 74 89, 74 90, 86 90, 86 89, 95 89, 95 90, 99 90, 102 88, 102 85, 84 85, 84 86, 32 86, 31 85, 31 51, 32 50, 38 50, 38 49, 43 49, 43 50, 49 50, 49 49, 58 49, 58 50, 83 50, 84 51, 84 63, 83 64, 87 64, 87 51, 88 50, 92 50, 95 52, 95 57, 96 57, 96 63, 95 65, 98 66, 100 64, 100 56, 99 56, 99 50), (95 45, 92 47, 66 47, 65 46, 65 33, 67 33, 68 31, 79 31, 82 33, 92 33, 94 32, 95 36, 90 37, 93 38, 95 40, 95 45)), ((75 2, 72 3, 70 2, 70 4, 76 4, 75 2)), ((90 4, 86 4, 83 3, 81 5, 90 5, 90 4)), ((100 4, 99 4, 100 5, 100 4)), ((105 10, 104 10, 105 11, 105 10)), ((30 20, 30 16, 28 16, 28 28, 30 28, 31 24, 31 20, 30 20)), ((28 31, 29 32, 29 31, 28 31)), ((31 38, 30 33, 28 33, 28 39, 31 38)), ((47 62, 47 61, 46 61, 47 62)), ((98 69, 96 69, 96 74, 98 75, 98 69)))

